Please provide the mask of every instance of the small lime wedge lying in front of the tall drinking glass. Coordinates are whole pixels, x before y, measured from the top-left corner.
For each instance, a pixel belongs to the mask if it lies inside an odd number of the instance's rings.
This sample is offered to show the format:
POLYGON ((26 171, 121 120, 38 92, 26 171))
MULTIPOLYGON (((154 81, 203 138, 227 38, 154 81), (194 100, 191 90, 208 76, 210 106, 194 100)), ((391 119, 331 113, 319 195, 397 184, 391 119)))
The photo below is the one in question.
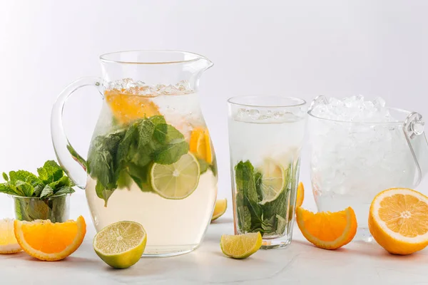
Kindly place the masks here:
POLYGON ((223 254, 234 259, 245 259, 255 253, 262 246, 260 232, 238 234, 230 236, 223 234, 220 239, 220 247, 223 254))

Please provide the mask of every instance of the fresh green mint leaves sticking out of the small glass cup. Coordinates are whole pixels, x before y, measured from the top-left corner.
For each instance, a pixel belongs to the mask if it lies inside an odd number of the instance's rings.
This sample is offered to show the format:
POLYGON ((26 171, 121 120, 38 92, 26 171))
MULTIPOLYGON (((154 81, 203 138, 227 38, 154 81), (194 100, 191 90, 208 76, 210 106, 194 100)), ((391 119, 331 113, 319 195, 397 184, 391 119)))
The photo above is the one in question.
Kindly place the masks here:
POLYGON ((73 193, 73 182, 54 160, 48 160, 37 169, 39 176, 25 170, 3 172, 6 182, 0 184, 0 192, 22 197, 40 197, 41 199, 73 193))

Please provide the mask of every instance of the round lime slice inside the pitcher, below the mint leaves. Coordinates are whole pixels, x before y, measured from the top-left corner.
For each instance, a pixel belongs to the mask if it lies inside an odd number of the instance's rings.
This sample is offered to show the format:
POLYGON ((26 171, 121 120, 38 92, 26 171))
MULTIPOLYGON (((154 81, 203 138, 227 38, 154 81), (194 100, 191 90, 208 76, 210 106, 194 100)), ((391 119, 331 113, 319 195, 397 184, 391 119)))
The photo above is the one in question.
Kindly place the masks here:
POLYGON ((198 187, 199 172, 198 160, 187 153, 171 165, 153 163, 151 186, 166 199, 184 199, 198 187))

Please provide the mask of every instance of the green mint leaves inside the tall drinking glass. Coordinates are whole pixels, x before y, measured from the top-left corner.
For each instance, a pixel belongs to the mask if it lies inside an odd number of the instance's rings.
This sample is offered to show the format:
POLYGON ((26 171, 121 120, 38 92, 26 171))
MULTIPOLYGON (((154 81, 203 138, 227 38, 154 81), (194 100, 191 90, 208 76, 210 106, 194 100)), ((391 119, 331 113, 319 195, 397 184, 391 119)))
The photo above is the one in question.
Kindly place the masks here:
POLYGON ((289 218, 287 207, 289 207, 290 189, 282 190, 275 200, 262 204, 262 179, 263 173, 255 170, 250 161, 240 161, 235 165, 238 228, 244 233, 283 234, 289 218))

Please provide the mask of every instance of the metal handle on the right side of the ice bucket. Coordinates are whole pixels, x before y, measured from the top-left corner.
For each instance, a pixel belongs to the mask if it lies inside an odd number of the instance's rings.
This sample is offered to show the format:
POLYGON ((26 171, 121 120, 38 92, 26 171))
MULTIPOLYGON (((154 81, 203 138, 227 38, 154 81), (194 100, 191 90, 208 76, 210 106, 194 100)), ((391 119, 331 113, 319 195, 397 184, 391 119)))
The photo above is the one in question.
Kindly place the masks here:
POLYGON ((404 121, 403 131, 417 167, 413 183, 414 187, 417 187, 428 172, 428 142, 424 133, 422 115, 410 113, 404 121))

